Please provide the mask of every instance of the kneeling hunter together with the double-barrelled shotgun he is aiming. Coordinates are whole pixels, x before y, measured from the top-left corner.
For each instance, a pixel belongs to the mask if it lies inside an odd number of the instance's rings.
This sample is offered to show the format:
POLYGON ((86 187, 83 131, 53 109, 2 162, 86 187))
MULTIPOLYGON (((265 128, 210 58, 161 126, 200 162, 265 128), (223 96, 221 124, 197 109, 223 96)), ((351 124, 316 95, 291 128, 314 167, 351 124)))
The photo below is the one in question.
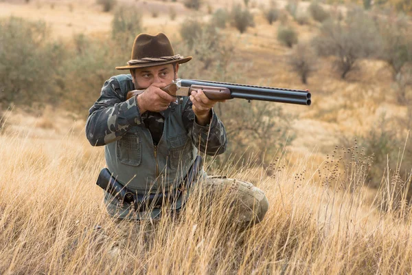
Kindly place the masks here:
POLYGON ((97 184, 105 190, 106 209, 117 219, 152 221, 164 211, 184 210, 190 188, 220 192, 229 186, 237 204, 231 205, 233 220, 258 223, 268 210, 262 190, 203 170, 201 153, 218 155, 227 148, 225 126, 213 107, 231 98, 308 105, 310 94, 179 79, 179 64, 191 59, 174 54, 165 34, 139 34, 128 65, 116 67, 130 74, 104 83, 89 110, 86 135, 91 145, 105 146, 107 168, 97 184))

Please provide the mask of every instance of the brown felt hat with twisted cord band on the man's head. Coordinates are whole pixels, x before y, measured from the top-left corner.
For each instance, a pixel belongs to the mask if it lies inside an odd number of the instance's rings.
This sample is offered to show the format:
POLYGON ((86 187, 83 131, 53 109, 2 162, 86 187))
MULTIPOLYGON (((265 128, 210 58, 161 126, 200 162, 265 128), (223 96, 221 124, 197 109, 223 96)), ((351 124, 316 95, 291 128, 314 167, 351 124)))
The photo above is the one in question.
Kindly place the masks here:
POLYGON ((133 43, 132 58, 128 61, 128 65, 116 67, 116 69, 144 68, 170 63, 181 64, 191 59, 192 56, 175 55, 168 37, 161 32, 155 36, 139 34, 133 43))

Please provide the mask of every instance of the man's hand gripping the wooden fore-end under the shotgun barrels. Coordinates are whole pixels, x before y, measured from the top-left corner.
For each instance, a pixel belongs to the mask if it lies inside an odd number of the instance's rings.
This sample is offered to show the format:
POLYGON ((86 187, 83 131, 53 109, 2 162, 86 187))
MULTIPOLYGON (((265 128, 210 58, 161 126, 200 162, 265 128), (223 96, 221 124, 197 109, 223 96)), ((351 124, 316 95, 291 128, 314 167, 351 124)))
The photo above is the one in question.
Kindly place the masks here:
POLYGON ((211 108, 217 102, 225 102, 226 100, 210 100, 201 89, 192 91, 190 94, 190 101, 192 101, 192 109, 196 115, 196 122, 199 125, 207 125, 211 119, 211 108))

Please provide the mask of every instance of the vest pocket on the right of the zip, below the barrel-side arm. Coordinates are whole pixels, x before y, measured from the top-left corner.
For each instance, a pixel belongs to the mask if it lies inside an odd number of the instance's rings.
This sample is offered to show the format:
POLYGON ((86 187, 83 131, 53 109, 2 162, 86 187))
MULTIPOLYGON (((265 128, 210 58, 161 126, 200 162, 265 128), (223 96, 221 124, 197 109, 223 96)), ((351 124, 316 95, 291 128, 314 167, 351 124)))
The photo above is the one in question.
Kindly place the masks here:
POLYGON ((170 168, 176 170, 179 164, 190 163, 193 159, 192 142, 186 134, 170 137, 170 168))

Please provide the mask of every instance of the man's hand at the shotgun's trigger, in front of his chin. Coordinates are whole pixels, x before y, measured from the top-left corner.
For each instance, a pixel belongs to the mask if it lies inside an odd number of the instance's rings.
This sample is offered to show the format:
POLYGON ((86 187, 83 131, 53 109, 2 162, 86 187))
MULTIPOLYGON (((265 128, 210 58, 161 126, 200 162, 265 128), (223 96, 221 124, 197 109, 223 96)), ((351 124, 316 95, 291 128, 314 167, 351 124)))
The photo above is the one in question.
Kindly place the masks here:
POLYGON ((174 102, 176 98, 170 96, 167 92, 161 90, 166 87, 165 83, 152 83, 143 93, 137 91, 129 91, 127 98, 136 96, 137 106, 139 107, 140 114, 146 111, 164 111, 168 109, 171 102, 174 102))

